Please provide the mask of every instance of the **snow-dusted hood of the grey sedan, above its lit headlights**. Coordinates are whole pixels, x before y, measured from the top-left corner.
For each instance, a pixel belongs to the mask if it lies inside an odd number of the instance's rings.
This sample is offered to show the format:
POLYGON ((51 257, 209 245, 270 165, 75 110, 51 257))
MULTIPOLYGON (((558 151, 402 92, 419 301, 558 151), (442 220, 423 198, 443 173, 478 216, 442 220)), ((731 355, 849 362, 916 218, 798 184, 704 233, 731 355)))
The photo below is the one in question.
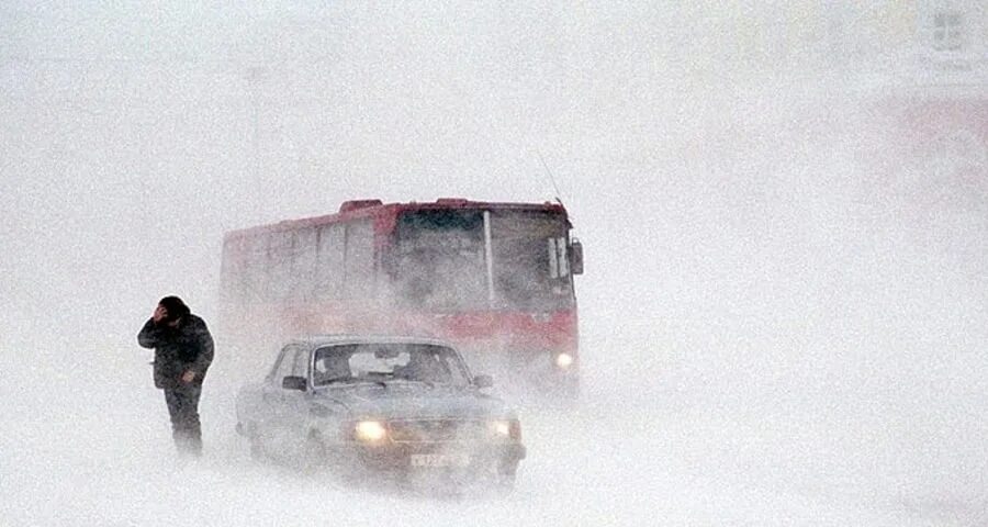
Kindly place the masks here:
POLYGON ((388 383, 334 386, 317 393, 319 397, 346 406, 356 418, 515 417, 515 413, 499 399, 472 390, 388 383))

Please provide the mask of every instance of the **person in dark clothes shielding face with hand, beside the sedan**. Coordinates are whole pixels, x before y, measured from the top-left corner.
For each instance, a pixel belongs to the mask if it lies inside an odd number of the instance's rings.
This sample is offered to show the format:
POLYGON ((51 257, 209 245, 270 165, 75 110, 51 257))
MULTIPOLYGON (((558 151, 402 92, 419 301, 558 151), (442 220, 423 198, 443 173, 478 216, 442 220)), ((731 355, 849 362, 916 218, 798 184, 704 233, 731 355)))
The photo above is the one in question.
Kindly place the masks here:
POLYGON ((213 336, 178 296, 158 302, 137 334, 137 344, 155 349, 155 388, 165 390, 171 436, 181 453, 202 453, 199 396, 213 361, 213 336))

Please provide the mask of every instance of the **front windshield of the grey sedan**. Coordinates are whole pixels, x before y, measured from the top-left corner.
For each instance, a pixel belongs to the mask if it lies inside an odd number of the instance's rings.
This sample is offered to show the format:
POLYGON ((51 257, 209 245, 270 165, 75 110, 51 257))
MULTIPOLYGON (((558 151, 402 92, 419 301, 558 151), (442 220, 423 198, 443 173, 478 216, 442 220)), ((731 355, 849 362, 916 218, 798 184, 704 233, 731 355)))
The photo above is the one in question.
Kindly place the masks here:
POLYGON ((373 343, 318 348, 312 381, 315 386, 391 381, 465 386, 469 377, 452 348, 431 344, 373 343))

